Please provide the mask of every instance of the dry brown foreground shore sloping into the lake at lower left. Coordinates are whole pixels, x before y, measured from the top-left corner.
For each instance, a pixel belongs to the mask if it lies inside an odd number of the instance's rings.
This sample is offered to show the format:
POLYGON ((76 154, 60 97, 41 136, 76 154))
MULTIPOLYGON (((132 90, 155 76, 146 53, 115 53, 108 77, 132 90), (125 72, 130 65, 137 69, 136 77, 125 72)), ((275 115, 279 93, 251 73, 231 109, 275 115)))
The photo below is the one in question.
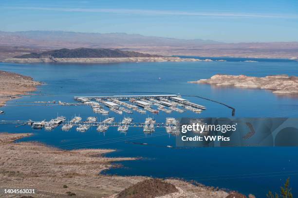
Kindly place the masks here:
MULTIPOLYGON (((26 196, 54 198, 226 198, 228 194, 214 187, 168 179, 121 177, 99 174, 111 168, 111 162, 134 158, 108 158, 111 149, 61 150, 36 142, 14 143, 31 133, 0 133, 0 189, 35 189, 26 196), (146 190, 152 189, 152 190, 146 190), (137 194, 138 195, 138 194, 137 194)), ((25 195, 24 195, 25 196, 25 195)))

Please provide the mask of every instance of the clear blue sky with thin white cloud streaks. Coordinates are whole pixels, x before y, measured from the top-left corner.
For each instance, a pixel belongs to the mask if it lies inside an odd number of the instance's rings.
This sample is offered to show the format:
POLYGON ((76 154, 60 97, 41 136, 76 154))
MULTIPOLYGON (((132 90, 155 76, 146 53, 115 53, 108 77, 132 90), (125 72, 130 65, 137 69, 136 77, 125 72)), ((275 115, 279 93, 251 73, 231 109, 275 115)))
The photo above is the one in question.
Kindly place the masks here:
POLYGON ((298 0, 0 0, 0 31, 298 41, 298 0))

